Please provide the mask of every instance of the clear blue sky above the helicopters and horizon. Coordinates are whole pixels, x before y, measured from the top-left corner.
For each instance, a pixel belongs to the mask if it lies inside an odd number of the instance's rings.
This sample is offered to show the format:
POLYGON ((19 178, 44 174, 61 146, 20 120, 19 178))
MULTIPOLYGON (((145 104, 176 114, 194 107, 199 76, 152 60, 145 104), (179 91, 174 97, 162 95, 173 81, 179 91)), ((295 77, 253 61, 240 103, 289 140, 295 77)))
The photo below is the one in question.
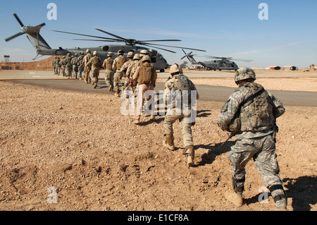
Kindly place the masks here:
MULTIPOLYGON (((146 39, 181 39, 176 45, 198 56, 226 56, 251 59, 236 61, 239 66, 317 65, 317 1, 315 0, 227 0, 227 1, 4 1, 0 8, 0 61, 8 54, 11 61, 32 61, 35 49, 25 35, 11 42, 4 39, 20 32, 13 18, 17 13, 24 25, 46 23, 41 35, 51 48, 96 47, 106 42, 83 42, 80 36, 52 32, 63 30, 109 37, 99 28, 121 37, 146 39), (57 20, 48 20, 49 3, 57 6, 57 20), (259 20, 259 4, 268 5, 268 20, 259 20)), ((113 44, 113 43, 108 43, 113 44)), ((181 49, 172 54, 159 50, 168 63, 181 63, 181 49)), ((198 57, 197 61, 208 59, 198 57)), ((41 59, 41 58, 40 58, 41 59)), ((42 58, 43 59, 43 58, 42 58)), ((185 59, 183 59, 185 61, 185 59)), ((190 63, 189 63, 190 65, 190 63)))

